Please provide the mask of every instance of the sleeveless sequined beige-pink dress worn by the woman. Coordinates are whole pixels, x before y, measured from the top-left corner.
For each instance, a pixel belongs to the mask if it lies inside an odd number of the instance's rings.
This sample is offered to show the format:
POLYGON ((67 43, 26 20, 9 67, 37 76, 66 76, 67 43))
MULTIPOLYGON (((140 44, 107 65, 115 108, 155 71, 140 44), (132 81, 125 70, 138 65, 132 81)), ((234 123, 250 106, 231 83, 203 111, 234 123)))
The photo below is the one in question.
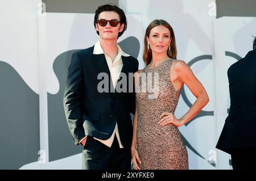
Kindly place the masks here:
POLYGON ((188 153, 179 129, 171 124, 158 124, 163 112, 175 112, 181 92, 171 82, 173 61, 172 58, 163 61, 156 68, 146 66, 139 77, 137 150, 141 169, 188 169, 188 153))

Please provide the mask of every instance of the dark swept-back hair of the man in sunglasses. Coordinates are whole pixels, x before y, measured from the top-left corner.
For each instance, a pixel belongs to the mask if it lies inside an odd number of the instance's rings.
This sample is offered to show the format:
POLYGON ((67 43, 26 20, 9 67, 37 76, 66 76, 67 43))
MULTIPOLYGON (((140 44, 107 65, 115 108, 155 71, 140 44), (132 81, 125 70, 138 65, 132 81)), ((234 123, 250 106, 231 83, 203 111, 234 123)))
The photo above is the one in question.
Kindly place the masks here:
MULTIPOLYGON (((126 28, 127 28, 127 22, 126 22, 126 16, 125 16, 125 12, 123 12, 122 9, 120 9, 119 7, 115 6, 115 5, 102 5, 99 6, 98 9, 95 11, 95 15, 94 15, 94 28, 96 28, 96 23, 98 20, 98 15, 100 15, 101 12, 104 11, 114 11, 117 12, 117 14, 119 15, 120 18, 120 24, 124 23, 125 26, 123 27, 123 31, 118 33, 118 37, 120 37, 123 32, 125 32, 126 28)), ((97 30, 96 30, 97 31, 97 30)), ((97 34, 100 35, 100 33, 97 31, 97 34)))

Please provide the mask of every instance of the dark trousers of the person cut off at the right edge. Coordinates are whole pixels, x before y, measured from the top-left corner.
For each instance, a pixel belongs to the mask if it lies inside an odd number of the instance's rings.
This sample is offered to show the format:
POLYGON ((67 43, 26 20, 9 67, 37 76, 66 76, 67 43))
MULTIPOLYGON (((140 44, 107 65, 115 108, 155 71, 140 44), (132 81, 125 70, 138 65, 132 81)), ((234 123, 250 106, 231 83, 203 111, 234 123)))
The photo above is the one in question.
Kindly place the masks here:
POLYGON ((233 170, 256 169, 256 148, 232 150, 231 161, 233 170))

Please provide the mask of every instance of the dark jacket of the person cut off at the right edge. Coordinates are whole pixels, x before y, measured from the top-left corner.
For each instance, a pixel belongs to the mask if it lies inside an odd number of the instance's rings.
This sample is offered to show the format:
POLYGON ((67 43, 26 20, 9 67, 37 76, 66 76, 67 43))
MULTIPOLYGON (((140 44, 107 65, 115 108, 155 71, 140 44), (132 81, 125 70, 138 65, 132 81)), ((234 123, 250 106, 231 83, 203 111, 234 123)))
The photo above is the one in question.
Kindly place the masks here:
POLYGON ((230 111, 218 140, 217 149, 256 147, 256 50, 228 69, 230 111))

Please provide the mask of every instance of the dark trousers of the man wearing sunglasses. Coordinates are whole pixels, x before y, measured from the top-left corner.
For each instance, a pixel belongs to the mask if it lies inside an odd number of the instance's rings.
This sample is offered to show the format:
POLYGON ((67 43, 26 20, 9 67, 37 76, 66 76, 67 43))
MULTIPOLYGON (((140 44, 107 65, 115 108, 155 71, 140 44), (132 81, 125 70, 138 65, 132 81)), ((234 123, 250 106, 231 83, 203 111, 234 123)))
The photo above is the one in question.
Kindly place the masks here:
POLYGON ((82 151, 83 170, 130 170, 130 148, 119 148, 117 137, 112 146, 102 144, 88 136, 82 151))

